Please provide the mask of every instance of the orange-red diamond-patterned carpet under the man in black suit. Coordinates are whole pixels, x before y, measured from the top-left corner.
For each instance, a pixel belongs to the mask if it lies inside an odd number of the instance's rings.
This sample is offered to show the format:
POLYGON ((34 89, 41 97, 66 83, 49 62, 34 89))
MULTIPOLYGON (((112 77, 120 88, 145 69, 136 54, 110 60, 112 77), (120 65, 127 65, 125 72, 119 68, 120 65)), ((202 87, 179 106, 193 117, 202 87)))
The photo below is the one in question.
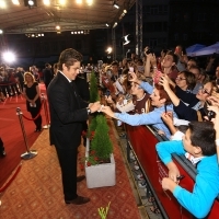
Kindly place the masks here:
MULTIPOLYGON (((116 162, 116 185, 87 187, 85 180, 78 183, 78 194, 91 198, 81 205, 64 203, 60 168, 55 147, 49 146, 48 130, 44 130, 33 145, 38 154, 22 163, 22 168, 1 197, 0 218, 3 219, 100 219, 97 208, 111 201, 107 219, 140 219, 139 210, 111 120, 111 139, 116 162)), ((84 147, 80 153, 84 155, 84 147)), ((78 170, 78 174, 83 174, 78 170)), ((97 178, 96 178, 97 180, 97 178)))

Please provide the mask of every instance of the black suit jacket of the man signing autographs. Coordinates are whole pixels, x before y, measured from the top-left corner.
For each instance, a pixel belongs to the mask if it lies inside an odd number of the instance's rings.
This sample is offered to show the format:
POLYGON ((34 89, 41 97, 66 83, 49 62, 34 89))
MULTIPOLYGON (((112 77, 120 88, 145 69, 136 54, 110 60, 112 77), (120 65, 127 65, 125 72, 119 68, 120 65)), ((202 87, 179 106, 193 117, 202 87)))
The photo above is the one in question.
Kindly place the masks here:
POLYGON ((88 103, 60 72, 47 91, 50 111, 50 145, 60 149, 78 147, 81 142, 82 122, 88 119, 88 103))

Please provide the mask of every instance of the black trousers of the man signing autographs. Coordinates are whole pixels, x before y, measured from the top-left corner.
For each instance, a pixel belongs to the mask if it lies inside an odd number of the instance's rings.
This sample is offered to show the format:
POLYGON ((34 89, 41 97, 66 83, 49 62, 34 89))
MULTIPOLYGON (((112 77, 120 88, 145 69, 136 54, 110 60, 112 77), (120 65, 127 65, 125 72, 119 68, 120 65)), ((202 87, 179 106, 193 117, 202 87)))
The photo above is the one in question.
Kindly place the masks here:
POLYGON ((56 147, 61 168, 65 200, 72 200, 77 195, 77 154, 78 148, 60 149, 56 147))

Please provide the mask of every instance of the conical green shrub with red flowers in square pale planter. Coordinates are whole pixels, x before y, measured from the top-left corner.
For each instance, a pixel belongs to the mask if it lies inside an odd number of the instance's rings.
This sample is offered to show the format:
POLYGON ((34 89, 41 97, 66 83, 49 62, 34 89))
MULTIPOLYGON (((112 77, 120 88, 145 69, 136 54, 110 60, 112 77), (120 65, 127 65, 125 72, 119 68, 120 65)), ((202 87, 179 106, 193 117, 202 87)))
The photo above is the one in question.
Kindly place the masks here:
POLYGON ((95 132, 91 141, 87 140, 87 185, 89 188, 113 186, 116 184, 115 160, 106 118, 100 114, 93 119, 96 119, 95 132))

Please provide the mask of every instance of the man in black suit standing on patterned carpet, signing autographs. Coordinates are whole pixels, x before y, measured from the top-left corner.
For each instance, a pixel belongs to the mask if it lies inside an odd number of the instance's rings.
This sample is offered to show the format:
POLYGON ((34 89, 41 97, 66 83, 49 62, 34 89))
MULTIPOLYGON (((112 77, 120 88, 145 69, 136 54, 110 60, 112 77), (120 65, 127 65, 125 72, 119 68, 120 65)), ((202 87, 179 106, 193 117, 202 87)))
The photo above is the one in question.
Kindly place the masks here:
POLYGON ((78 146, 81 142, 82 123, 90 113, 101 108, 100 102, 82 101, 77 93, 74 79, 79 74, 82 55, 72 48, 60 54, 59 72, 50 82, 47 95, 50 110, 50 145, 55 145, 61 168, 62 187, 66 204, 82 205, 90 198, 77 194, 78 146))

